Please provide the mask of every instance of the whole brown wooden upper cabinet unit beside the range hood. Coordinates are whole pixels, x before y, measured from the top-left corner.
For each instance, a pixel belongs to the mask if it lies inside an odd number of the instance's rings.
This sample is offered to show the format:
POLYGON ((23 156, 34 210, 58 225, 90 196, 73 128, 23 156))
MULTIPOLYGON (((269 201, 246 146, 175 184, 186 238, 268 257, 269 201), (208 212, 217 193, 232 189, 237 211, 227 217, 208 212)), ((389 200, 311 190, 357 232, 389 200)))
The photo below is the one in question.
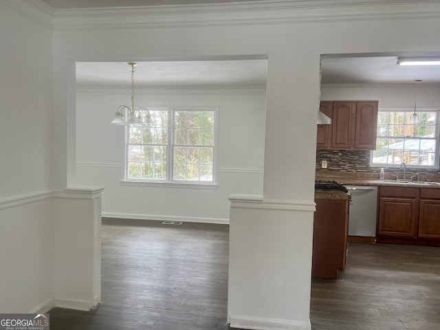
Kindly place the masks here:
POLYGON ((317 148, 374 150, 377 107, 377 101, 322 101, 331 125, 318 125, 317 148))

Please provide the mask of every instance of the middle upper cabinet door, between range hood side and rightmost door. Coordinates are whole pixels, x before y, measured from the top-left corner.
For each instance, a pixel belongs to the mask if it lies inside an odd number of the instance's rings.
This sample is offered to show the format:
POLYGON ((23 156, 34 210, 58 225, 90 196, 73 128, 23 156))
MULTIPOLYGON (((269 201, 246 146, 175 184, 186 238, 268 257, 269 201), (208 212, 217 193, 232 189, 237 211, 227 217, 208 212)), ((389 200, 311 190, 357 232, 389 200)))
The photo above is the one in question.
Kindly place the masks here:
POLYGON ((333 102, 331 148, 351 149, 355 145, 356 102, 333 102))

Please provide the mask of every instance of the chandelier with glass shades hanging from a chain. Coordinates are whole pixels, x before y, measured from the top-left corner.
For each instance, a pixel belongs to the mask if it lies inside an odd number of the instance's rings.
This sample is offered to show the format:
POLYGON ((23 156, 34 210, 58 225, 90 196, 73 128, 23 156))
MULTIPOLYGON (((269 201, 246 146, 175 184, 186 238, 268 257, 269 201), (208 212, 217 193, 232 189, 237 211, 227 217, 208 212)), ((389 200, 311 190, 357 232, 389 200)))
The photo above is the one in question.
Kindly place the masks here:
POLYGON ((135 107, 135 66, 137 63, 129 62, 131 65, 131 107, 120 105, 116 110, 115 117, 111 124, 115 125, 133 125, 133 126, 151 126, 153 120, 148 109, 144 107, 135 107))

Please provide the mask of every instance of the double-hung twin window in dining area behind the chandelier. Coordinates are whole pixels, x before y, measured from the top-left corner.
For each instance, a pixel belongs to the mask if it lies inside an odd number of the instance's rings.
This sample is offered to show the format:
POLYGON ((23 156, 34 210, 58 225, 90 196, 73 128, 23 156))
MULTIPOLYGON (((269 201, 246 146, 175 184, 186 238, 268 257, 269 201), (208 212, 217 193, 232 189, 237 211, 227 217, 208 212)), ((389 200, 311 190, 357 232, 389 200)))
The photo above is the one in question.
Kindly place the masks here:
POLYGON ((129 126, 126 179, 214 184, 214 108, 148 109, 153 125, 129 126))

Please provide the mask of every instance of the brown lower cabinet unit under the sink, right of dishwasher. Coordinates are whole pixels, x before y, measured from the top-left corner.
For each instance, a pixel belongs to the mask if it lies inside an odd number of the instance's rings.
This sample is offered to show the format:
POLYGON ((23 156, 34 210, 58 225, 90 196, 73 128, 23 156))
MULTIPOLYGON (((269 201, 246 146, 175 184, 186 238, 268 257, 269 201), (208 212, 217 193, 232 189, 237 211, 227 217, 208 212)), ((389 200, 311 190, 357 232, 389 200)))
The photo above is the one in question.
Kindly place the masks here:
POLYGON ((440 245, 440 189, 382 186, 377 242, 440 245))

